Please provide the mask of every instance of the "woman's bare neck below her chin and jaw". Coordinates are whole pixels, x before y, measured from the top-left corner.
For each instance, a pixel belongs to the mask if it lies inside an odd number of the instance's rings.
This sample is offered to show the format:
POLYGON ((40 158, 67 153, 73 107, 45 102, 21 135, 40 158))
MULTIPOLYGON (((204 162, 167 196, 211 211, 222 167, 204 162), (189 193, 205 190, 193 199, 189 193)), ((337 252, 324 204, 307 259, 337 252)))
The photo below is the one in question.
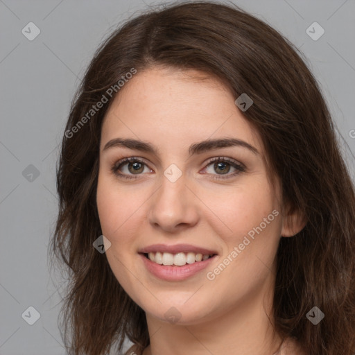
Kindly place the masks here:
MULTIPOLYGON (((266 282, 263 288, 268 284, 273 285, 266 282)), ((260 289, 233 309, 223 309, 222 315, 209 313, 203 321, 185 324, 171 324, 147 315, 150 345, 143 355, 277 354, 282 340, 270 322, 272 296, 273 289, 260 289)))

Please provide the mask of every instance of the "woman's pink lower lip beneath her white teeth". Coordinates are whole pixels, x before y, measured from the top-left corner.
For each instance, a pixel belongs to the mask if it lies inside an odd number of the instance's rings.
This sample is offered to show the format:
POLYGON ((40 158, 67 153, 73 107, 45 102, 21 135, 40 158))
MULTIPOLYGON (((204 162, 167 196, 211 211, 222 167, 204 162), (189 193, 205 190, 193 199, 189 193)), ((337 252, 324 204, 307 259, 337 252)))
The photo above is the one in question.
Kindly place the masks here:
POLYGON ((144 256, 144 254, 139 254, 141 259, 143 259, 144 265, 154 276, 159 277, 166 281, 182 281, 195 275, 197 272, 207 268, 209 264, 216 259, 217 255, 211 257, 207 260, 198 261, 196 263, 187 263, 184 266, 170 266, 170 265, 159 265, 150 261, 144 256))

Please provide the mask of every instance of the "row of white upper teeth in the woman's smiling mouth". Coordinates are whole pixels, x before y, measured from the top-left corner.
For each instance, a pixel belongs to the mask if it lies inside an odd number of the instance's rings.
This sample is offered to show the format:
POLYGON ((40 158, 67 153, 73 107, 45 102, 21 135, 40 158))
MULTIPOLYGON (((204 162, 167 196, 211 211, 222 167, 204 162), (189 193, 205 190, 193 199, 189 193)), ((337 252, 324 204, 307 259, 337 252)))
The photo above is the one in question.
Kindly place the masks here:
POLYGON ((205 261, 209 259, 212 255, 201 254, 194 252, 178 252, 177 254, 171 254, 170 252, 149 252, 148 259, 159 265, 175 265, 184 266, 186 263, 195 263, 198 261, 205 261))

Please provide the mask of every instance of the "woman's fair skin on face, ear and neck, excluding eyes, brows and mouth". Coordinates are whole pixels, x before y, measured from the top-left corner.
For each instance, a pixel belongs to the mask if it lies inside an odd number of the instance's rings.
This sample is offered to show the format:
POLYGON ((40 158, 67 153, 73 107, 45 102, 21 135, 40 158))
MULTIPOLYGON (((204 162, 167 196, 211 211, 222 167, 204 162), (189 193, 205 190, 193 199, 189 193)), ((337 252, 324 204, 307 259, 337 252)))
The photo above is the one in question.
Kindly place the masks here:
MULTIPOLYGON (((272 334, 275 254, 281 236, 293 236, 304 223, 282 209, 279 182, 270 183, 265 150, 256 130, 236 107, 235 97, 214 78, 198 71, 154 67, 139 71, 121 88, 101 132, 97 206, 112 272, 146 312, 150 345, 144 355, 271 355, 281 339, 272 334), (116 137, 148 141, 159 155, 124 147, 103 151, 116 137), (189 157, 189 146, 234 137, 241 146, 218 148, 189 157), (144 160, 138 173, 126 163, 119 178, 111 167, 124 157, 144 160), (229 157, 245 166, 230 178, 208 163, 229 157), (181 177, 164 171, 175 164, 181 177), (202 173, 205 172, 205 173, 202 173), (244 237, 272 214, 279 215, 214 280, 207 279, 244 237), (293 228, 290 227, 293 223, 293 228), (155 243, 190 243, 216 250, 209 268, 181 282, 157 279, 146 270, 139 248, 155 243), (174 306, 181 318, 168 322, 174 306), (268 319, 270 318, 270 320, 268 319)), ((295 353, 297 354, 297 353, 295 353)))

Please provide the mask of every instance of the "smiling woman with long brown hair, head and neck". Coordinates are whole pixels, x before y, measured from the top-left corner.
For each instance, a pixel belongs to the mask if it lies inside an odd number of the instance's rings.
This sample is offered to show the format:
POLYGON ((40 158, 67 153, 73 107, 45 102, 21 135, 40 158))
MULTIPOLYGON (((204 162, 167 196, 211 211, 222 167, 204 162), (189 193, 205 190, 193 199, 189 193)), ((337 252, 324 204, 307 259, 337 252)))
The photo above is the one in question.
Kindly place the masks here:
POLYGON ((112 33, 57 174, 70 354, 354 354, 354 184, 315 79, 259 19, 199 1, 112 33))

